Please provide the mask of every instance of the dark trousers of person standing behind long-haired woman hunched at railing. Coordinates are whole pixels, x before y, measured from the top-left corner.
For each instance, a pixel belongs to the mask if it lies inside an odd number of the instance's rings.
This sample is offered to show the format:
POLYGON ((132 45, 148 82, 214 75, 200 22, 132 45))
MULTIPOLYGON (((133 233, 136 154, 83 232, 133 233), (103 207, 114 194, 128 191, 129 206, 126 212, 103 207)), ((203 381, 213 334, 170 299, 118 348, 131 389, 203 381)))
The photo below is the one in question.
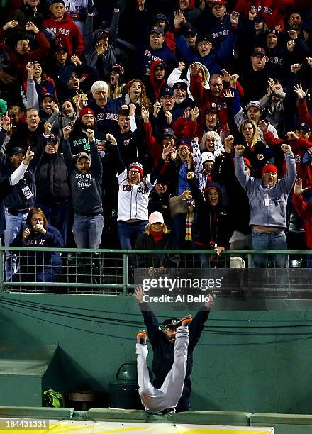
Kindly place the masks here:
POLYGON ((54 226, 62 235, 62 239, 67 245, 67 230, 69 219, 69 202, 60 202, 60 204, 36 204, 45 213, 45 217, 51 226, 54 226))

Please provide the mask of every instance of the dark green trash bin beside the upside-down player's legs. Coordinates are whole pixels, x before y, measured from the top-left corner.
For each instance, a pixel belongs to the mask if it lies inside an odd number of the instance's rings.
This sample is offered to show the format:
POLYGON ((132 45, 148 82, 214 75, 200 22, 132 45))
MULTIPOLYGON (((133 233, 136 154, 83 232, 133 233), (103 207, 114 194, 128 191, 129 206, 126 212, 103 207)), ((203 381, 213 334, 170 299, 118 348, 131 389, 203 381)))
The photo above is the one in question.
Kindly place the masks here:
POLYGON ((109 407, 142 409, 137 379, 136 362, 121 365, 116 380, 109 383, 109 407))

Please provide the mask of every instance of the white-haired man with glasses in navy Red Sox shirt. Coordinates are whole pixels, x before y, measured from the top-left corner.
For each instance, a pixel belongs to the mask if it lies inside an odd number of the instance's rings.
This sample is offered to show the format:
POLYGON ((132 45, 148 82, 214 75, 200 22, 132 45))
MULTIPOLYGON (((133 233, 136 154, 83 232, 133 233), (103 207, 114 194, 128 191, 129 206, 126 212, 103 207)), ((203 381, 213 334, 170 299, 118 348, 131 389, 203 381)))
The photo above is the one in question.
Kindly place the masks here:
POLYGON ((101 80, 91 86, 93 99, 89 106, 94 111, 97 128, 104 133, 111 133, 118 128, 118 111, 123 105, 122 99, 108 98, 108 85, 101 80))

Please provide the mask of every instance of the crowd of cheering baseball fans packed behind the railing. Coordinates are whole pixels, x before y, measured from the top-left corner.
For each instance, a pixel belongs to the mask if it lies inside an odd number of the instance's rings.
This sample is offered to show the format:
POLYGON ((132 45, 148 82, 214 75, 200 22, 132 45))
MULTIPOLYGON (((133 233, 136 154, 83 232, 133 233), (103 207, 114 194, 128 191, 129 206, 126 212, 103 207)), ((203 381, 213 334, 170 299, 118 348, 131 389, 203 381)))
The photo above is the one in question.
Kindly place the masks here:
POLYGON ((5 245, 285 250, 291 216, 311 249, 309 1, 0 12, 2 182, 34 154, 2 187, 5 245))

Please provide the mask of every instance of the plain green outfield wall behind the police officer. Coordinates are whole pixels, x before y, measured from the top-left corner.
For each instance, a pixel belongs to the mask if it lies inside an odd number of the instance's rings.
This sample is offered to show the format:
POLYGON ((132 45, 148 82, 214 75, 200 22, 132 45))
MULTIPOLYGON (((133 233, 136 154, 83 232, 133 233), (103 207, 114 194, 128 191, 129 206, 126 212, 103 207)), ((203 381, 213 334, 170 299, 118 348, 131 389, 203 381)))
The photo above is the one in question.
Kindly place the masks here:
MULTIPOLYGON (((2 293, 0 301, 1 345, 59 345, 64 392, 108 394, 118 367, 135 360, 143 322, 132 296, 2 293)), ((193 410, 312 413, 312 312, 276 303, 282 310, 225 311, 216 302, 194 352, 193 410)))

